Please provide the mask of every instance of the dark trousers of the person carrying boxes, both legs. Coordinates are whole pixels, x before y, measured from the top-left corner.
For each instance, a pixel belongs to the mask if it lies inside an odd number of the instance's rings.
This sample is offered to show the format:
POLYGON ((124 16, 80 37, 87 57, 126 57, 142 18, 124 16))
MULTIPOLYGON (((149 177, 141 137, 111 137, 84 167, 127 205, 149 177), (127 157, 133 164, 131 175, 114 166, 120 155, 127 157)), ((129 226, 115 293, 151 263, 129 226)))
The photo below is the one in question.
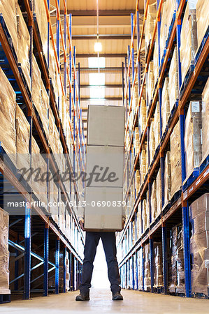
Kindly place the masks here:
POLYGON ((82 293, 89 292, 92 281, 93 262, 96 255, 96 248, 101 238, 103 249, 108 264, 108 278, 110 289, 113 293, 120 291, 120 274, 116 257, 115 232, 86 232, 84 260, 82 264, 82 284, 79 289, 82 293))

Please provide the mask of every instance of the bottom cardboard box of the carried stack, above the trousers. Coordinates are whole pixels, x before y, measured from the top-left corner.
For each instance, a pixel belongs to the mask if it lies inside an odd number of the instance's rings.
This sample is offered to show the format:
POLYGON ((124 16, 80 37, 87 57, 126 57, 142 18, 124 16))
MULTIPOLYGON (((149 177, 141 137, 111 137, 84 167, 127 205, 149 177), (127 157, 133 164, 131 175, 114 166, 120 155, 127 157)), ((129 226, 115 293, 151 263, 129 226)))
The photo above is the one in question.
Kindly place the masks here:
POLYGON ((85 201, 86 230, 103 232, 122 230, 122 188, 86 188, 85 201), (99 206, 102 201, 105 206, 99 206), (114 201, 120 206, 113 206, 114 201))

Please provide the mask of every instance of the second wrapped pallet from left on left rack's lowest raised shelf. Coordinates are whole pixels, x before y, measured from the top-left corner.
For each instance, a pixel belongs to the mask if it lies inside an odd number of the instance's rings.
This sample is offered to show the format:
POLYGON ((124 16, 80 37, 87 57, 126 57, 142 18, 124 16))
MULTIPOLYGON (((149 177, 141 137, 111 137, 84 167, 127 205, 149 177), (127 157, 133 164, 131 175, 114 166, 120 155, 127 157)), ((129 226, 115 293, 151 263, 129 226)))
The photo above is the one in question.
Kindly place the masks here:
POLYGON ((29 169, 30 155, 29 155, 29 140, 30 140, 30 125, 20 109, 16 106, 15 117, 16 128, 16 148, 17 148, 17 168, 29 169))

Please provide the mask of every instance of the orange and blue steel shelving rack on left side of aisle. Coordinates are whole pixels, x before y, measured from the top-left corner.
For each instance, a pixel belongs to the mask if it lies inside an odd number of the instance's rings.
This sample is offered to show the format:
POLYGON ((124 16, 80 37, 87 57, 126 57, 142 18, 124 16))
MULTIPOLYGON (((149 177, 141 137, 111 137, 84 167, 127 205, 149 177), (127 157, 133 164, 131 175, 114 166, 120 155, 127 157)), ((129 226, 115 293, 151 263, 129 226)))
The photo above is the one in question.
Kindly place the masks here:
MULTIPOLYGON (((29 29, 30 34, 30 67, 32 71, 32 52, 36 49, 38 58, 37 61, 40 66, 40 70, 42 73, 42 79, 45 84, 45 88, 48 91, 50 96, 50 106, 52 107, 52 112, 55 116, 55 121, 57 128, 59 130, 60 140, 62 142, 64 154, 66 154, 66 161, 69 165, 69 169, 71 173, 75 170, 75 163, 77 163, 78 168, 84 170, 85 169, 85 141, 83 136, 83 126, 82 126, 82 111, 80 109, 80 76, 79 73, 76 73, 76 64, 75 64, 75 47, 72 46, 72 38, 71 38, 71 15, 67 16, 66 10, 66 0, 63 1, 64 5, 64 31, 62 31, 62 22, 60 20, 60 3, 56 1, 56 12, 57 12, 57 46, 55 45, 55 40, 52 33, 52 24, 50 22, 50 0, 44 0, 45 10, 48 16, 48 56, 43 54, 43 47, 41 43, 40 33, 38 33, 38 27, 36 24, 36 16, 33 13, 33 1, 30 0, 20 0, 18 1, 20 6, 24 12, 27 13, 27 27, 29 29), (49 43, 50 36, 52 38, 52 45, 55 52, 55 57, 57 61, 57 70, 60 73, 60 82, 62 85, 63 96, 67 97, 67 82, 69 87, 69 113, 71 117, 70 121, 70 130, 71 137, 73 142, 73 160, 72 156, 69 154, 69 149, 66 145, 66 137, 64 135, 64 130, 62 128, 62 122, 59 119, 59 103, 55 102, 55 96, 53 94, 52 85, 50 84, 49 77, 49 43), (59 40, 62 40, 62 49, 64 52, 64 83, 62 82, 61 75, 61 63, 60 63, 60 47, 59 40), (67 47, 67 36, 68 36, 68 45, 69 45, 69 64, 67 62, 66 55, 66 47, 67 47), (73 120, 73 125, 72 125, 73 120)), ((0 42, 1 42, 1 52, 4 54, 4 61, 6 63, 6 67, 9 68, 10 75, 12 75, 13 86, 15 87, 15 92, 19 97, 19 103, 22 103, 26 107, 26 117, 30 124, 30 133, 32 134, 34 131, 36 132, 36 138, 38 139, 39 147, 44 154, 48 155, 48 164, 52 166, 52 169, 57 172, 57 164, 55 163, 55 159, 52 158, 50 146, 48 144, 48 140, 43 133, 43 129, 40 125, 40 120, 37 117, 37 114, 34 110, 33 104, 31 102, 31 91, 27 87, 27 84, 24 80, 24 76, 21 73, 21 68, 17 66, 15 52, 13 50, 13 45, 11 44, 9 33, 6 28, 5 23, 3 22, 3 17, 1 17, 0 23, 0 42), (15 83, 14 83, 15 82, 15 83)), ((1 61, 1 66, 3 68, 4 64, 1 61)), ((3 68, 4 69, 4 68, 3 68)), ((30 72, 31 75, 31 72, 30 72)), ((10 79, 9 79, 10 80, 10 79)), ((31 151, 31 141, 29 151, 31 151)), ((29 193, 25 187, 17 180, 15 174, 7 167, 5 163, 3 163, 3 148, 1 147, 1 158, 0 158, 0 171, 3 174, 3 177, 7 179, 10 184, 14 186, 18 193, 20 193, 24 200, 30 202, 31 198, 29 193)), ((80 225, 78 224, 78 220, 75 215, 75 210, 70 206, 70 196, 66 192, 65 186, 62 184, 60 177, 57 178, 59 189, 64 195, 66 202, 68 202, 67 209, 71 216, 73 217, 73 224, 75 225, 75 231, 80 234, 81 243, 83 244, 84 237, 82 231, 80 230, 80 225), (78 230, 78 231, 77 231, 78 230)), ((80 199, 80 190, 78 190, 78 186, 76 182, 73 180, 73 186, 75 190, 75 194, 77 195, 77 199, 80 199)), ((10 234, 13 234, 16 241, 9 240, 9 245, 15 248, 16 252, 23 253, 21 256, 18 255, 15 259, 15 290, 19 292, 24 292, 24 299, 29 299, 31 292, 31 283, 36 281, 38 278, 43 278, 43 296, 47 296, 48 289, 48 281, 49 281, 49 273, 55 270, 55 293, 59 293, 59 255, 61 253, 60 247, 62 246, 62 255, 65 257, 66 252, 69 251, 69 259, 70 259, 70 286, 71 290, 78 288, 79 283, 81 282, 81 271, 82 271, 82 258, 78 254, 77 248, 73 247, 71 241, 66 238, 64 234, 62 234, 61 230, 59 230, 59 226, 54 223, 50 219, 49 216, 45 214, 41 207, 36 208, 27 208, 25 207, 25 214, 22 217, 16 217, 10 219, 10 234), (32 217, 32 212, 36 213, 36 216, 32 217), (32 233, 33 230, 33 233, 32 233), (20 245, 19 238, 20 233, 24 234, 22 237, 22 242, 24 242, 24 246, 20 245), (38 234, 38 235, 37 235, 38 234), (44 246, 43 257, 34 253, 32 250, 32 242, 31 238, 37 238, 36 241, 40 241, 40 246, 44 246), (52 243, 53 241, 53 243, 52 243), (49 260, 50 248, 55 251, 55 261, 51 262, 49 260), (19 257, 18 257, 19 256, 19 257), (20 257, 24 258, 24 273, 18 276, 18 266, 20 266, 19 260, 20 257), (31 267, 31 257, 35 257, 39 261, 39 264, 31 267), (52 266, 49 269, 49 264, 52 266), (31 271, 43 265, 43 274, 38 278, 34 278, 31 281, 31 271), (18 279, 24 277, 24 287, 21 287, 18 290, 18 279), (23 290, 22 290, 23 289, 23 290)), ((66 292, 65 283, 66 283, 66 266, 65 263, 62 265, 63 271, 63 292, 66 292)), ((36 292, 36 290, 34 290, 36 292)), ((7 298, 5 296, 1 296, 3 300, 7 298)), ((8 299, 10 297, 8 296, 8 299)), ((8 300, 7 299, 7 300, 8 300)))

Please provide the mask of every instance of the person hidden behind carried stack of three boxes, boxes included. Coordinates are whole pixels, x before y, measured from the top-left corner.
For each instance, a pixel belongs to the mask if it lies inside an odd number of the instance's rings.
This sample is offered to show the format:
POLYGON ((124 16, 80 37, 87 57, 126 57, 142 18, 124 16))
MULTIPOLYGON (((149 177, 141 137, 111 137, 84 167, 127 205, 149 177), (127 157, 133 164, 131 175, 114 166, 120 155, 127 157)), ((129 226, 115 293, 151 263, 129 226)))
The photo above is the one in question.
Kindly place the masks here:
POLYGON ((89 301, 93 262, 101 239, 108 264, 113 300, 122 300, 115 232, 125 222, 123 202, 124 107, 89 105, 87 117, 87 176, 85 210, 78 221, 86 231, 82 283, 76 301, 89 301))

